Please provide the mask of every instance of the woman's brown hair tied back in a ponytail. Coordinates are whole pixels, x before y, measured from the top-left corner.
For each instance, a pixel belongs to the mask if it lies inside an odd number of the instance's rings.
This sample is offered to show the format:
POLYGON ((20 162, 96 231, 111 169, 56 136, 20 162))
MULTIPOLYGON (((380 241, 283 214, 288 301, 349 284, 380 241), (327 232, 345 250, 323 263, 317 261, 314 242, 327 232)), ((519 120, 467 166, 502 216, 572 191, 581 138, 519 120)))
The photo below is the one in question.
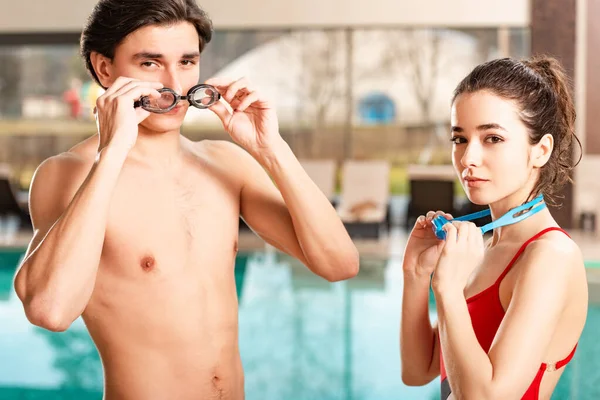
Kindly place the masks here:
POLYGON ((480 90, 516 102, 521 121, 529 131, 529 143, 537 144, 544 135, 552 135, 554 148, 531 195, 542 193, 556 205, 556 193, 572 181, 571 171, 582 154, 575 162, 573 146, 577 143, 580 150, 582 147, 575 135, 575 105, 564 69, 548 56, 492 60, 475 67, 460 82, 452 102, 462 93, 480 90))

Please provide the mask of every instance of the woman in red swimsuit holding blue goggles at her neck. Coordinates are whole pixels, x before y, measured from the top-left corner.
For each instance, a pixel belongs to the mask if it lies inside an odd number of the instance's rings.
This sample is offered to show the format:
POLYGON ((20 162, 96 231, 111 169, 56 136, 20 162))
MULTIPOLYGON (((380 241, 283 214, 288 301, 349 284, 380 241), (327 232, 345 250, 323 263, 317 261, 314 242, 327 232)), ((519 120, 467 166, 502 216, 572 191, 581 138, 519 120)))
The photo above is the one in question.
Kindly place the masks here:
MULTIPOLYGON (((492 220, 542 194, 552 202, 574 167, 575 110, 552 58, 476 67, 452 101, 452 159, 492 220)), ((547 208, 496 228, 471 222, 433 233, 417 220, 404 261, 401 358, 407 385, 441 374, 442 399, 549 399, 587 314, 581 252, 547 208), (429 286, 438 320, 428 316, 429 286)))

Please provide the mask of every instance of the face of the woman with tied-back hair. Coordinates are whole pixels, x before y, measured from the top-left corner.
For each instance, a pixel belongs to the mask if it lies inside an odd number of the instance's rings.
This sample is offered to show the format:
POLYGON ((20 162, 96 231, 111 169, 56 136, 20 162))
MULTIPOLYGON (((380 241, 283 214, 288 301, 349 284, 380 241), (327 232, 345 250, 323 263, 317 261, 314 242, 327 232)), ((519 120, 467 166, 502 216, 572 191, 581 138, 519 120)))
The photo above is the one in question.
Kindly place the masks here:
POLYGON ((531 191, 538 175, 534 146, 514 101, 488 91, 463 93, 452 105, 451 124, 452 164, 471 202, 492 204, 531 191))

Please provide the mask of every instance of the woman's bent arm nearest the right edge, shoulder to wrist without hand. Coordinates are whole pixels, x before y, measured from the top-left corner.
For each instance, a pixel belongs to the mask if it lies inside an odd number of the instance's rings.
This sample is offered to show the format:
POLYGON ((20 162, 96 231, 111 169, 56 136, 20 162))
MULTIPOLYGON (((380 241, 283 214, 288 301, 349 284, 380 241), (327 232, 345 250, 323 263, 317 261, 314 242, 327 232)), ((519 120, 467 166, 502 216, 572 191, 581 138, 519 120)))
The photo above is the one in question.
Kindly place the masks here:
POLYGON ((475 336, 463 289, 434 285, 442 353, 457 398, 520 398, 545 361, 581 254, 568 239, 560 245, 540 239, 528 246, 520 264, 510 306, 487 354, 475 336))

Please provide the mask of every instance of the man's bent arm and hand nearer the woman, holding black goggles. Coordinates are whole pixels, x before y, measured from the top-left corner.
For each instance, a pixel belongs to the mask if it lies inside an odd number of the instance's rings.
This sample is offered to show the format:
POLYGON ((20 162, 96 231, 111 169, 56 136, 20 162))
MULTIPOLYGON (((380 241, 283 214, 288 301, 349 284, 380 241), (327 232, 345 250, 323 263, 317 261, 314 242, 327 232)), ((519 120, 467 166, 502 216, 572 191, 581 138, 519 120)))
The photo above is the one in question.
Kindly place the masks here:
POLYGON ((210 110, 252 155, 240 151, 234 157, 240 160, 236 172, 243 176, 242 217, 267 242, 297 257, 315 274, 330 281, 355 276, 358 251, 329 200, 281 138, 273 105, 245 78, 206 83, 231 107, 217 102, 210 110))

